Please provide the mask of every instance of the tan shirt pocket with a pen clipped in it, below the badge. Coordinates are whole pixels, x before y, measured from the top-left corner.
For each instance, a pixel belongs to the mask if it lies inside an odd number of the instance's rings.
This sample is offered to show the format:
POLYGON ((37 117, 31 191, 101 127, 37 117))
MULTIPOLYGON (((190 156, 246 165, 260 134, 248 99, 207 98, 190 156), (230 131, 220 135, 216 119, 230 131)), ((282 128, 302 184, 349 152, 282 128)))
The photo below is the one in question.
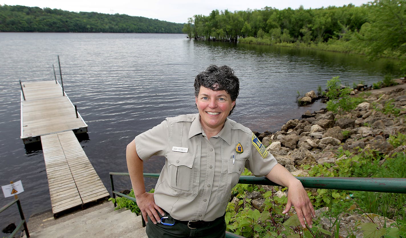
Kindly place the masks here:
POLYGON ((241 173, 244 171, 246 159, 228 159, 227 164, 223 164, 220 175, 220 185, 217 190, 217 199, 220 203, 229 202, 231 189, 238 183, 241 173))

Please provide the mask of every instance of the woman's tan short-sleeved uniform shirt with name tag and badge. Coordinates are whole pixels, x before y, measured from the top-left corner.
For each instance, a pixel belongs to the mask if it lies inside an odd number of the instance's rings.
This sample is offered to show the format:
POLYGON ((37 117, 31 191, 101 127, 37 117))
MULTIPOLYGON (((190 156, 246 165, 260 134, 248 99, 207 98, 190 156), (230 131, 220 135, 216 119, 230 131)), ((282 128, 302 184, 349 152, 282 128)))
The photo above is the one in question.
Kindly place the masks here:
POLYGON ((213 221, 222 216, 244 166, 256 176, 265 176, 277 164, 250 129, 228 118, 210 140, 199 114, 188 114, 166 118, 137 135, 135 143, 143 160, 166 157, 154 199, 181 221, 213 221))

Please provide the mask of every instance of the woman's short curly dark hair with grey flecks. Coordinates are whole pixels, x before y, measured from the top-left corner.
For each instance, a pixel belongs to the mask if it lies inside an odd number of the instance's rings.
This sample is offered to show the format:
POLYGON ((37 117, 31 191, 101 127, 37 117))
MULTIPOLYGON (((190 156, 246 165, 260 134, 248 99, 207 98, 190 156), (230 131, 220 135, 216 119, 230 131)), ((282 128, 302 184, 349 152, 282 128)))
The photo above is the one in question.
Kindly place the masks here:
MULTIPOLYGON (((205 70, 196 75, 194 79, 194 96, 199 96, 200 86, 206 87, 213 91, 225 90, 235 101, 240 93, 240 80, 234 74, 234 70, 229 66, 209 65, 205 70)), ((234 110, 231 109, 231 112, 234 110)), ((230 115, 229 114, 229 115, 230 115)))

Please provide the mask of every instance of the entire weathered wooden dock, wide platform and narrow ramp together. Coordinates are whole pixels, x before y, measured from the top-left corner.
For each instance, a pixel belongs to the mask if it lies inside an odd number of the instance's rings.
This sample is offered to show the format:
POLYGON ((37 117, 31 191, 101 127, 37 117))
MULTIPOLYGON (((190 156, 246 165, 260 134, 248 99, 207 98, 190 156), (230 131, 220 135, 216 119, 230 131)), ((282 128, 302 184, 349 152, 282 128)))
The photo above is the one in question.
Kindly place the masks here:
POLYGON ((21 138, 41 141, 54 216, 109 197, 74 134, 87 132, 87 124, 59 84, 24 82, 22 89, 21 138))

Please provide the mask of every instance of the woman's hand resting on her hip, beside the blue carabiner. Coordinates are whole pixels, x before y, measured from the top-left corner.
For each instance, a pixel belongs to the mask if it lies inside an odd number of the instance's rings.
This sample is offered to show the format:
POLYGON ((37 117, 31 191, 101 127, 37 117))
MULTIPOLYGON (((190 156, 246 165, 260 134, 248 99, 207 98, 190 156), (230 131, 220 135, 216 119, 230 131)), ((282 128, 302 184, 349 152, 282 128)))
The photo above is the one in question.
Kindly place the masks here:
POLYGON ((148 223, 147 216, 151 219, 151 221, 156 224, 157 221, 161 221, 161 218, 158 213, 164 216, 164 211, 155 204, 155 200, 153 198, 153 193, 145 192, 143 194, 136 196, 137 205, 141 210, 141 213, 144 217, 145 223, 148 223))

